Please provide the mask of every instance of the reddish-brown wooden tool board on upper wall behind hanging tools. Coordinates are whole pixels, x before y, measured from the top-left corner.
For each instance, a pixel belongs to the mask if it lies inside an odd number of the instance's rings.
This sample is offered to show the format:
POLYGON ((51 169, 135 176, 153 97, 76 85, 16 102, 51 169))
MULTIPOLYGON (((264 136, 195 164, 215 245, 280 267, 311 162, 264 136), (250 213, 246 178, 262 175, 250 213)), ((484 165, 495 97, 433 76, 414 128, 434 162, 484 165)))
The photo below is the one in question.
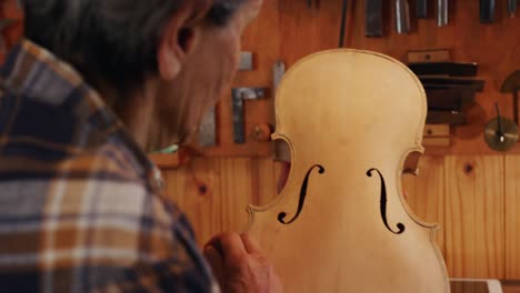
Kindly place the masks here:
MULTIPOLYGON (((338 48, 342 0, 319 1, 320 8, 309 10, 303 0, 264 0, 263 10, 243 37, 243 50, 256 53, 256 70, 239 72, 234 87, 271 87, 271 68, 278 59, 288 67, 301 58, 328 49, 338 48)), ((493 154, 483 139, 486 123, 496 117, 494 102, 501 112, 512 118, 510 94, 499 91, 504 79, 520 69, 520 12, 509 18, 507 0, 497 0, 497 22, 479 22, 479 1, 449 1, 450 26, 439 28, 434 19, 433 2, 429 1, 430 16, 427 20, 414 20, 409 36, 394 31, 392 4, 383 1, 386 9, 386 37, 364 37, 364 1, 349 2, 346 47, 372 50, 389 54, 406 62, 411 50, 450 49, 452 60, 478 62, 479 78, 486 80, 484 91, 476 103, 464 109, 469 123, 452 129, 451 148, 428 150, 431 154, 493 154)), ((414 11, 414 2, 409 1, 414 11)), ((377 84, 377 81, 374 81, 377 84)), ((209 150, 210 154, 257 155, 268 152, 268 143, 251 142, 242 148, 232 143, 230 97, 222 97, 219 107, 220 146, 209 150)), ((251 133, 256 124, 272 122, 272 99, 250 101, 247 104, 246 127, 251 133)), ((520 153, 516 148, 513 153, 520 153)))

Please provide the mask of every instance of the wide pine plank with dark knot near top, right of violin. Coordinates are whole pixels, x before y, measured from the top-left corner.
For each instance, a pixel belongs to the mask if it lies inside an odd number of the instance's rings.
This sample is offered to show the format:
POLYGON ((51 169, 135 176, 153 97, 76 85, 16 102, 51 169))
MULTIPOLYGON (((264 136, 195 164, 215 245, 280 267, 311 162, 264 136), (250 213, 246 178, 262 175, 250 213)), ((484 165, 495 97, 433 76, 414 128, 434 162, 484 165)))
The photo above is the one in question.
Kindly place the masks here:
POLYGON ((450 155, 444 168, 450 276, 503 277, 503 156, 450 155))

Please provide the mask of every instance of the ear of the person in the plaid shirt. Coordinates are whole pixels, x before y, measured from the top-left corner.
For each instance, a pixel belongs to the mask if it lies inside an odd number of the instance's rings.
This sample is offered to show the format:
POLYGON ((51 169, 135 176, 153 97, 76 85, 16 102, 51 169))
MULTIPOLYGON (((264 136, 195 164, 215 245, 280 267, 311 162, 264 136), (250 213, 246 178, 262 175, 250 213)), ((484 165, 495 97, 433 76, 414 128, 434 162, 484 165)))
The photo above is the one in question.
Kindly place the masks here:
MULTIPOLYGON (((146 0, 144 0, 146 1, 146 0)), ((174 80, 182 69, 186 58, 194 50, 201 26, 193 21, 194 4, 180 7, 171 17, 159 40, 157 61, 163 80, 174 80)))

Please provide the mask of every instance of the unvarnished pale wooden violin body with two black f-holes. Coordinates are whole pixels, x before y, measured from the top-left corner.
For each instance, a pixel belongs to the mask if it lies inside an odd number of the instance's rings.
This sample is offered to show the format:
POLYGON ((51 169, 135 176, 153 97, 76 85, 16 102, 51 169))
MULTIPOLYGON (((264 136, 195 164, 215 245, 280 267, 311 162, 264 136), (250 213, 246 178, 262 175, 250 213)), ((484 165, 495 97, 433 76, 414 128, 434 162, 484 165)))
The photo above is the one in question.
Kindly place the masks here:
POLYGON ((287 72, 276 113, 289 180, 248 211, 286 292, 449 292, 436 225, 401 193, 407 158, 423 151, 417 77, 374 52, 320 52, 287 72))

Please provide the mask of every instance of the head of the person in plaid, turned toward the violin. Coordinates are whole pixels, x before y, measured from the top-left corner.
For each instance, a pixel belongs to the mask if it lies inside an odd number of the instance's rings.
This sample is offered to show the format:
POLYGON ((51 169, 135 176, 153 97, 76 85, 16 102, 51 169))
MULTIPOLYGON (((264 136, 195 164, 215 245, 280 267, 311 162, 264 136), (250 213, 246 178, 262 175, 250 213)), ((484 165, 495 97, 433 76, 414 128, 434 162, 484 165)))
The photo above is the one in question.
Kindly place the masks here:
POLYGON ((154 100, 159 129, 150 130, 158 132, 148 139, 150 148, 193 134, 231 82, 240 36, 261 6, 261 0, 21 2, 26 37, 110 93, 103 95, 123 120, 129 107, 144 103, 136 99, 154 100))

